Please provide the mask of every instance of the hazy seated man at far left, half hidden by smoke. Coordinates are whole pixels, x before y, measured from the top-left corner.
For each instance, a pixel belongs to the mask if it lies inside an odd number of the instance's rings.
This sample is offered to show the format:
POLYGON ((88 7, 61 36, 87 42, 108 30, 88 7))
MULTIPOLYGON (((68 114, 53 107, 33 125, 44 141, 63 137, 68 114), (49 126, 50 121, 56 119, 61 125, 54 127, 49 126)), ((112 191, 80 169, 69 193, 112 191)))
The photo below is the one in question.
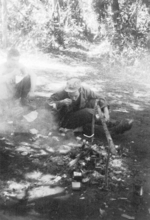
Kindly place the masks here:
POLYGON ((20 53, 17 49, 10 49, 7 60, 0 66, 0 101, 13 102, 20 99, 22 105, 28 104, 28 97, 34 96, 36 76, 28 73, 19 63, 20 53), (17 77, 22 80, 17 82, 17 77))

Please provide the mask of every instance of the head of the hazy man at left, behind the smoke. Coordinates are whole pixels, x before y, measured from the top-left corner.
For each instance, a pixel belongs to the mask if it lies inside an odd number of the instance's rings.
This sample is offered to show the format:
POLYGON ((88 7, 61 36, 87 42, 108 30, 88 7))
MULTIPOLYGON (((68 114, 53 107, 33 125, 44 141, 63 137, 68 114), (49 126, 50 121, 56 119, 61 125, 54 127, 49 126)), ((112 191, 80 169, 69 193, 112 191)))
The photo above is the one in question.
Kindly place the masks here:
POLYGON ((10 49, 7 53, 7 63, 9 66, 13 66, 15 67, 18 62, 19 62, 19 58, 20 58, 20 53, 17 49, 13 48, 10 49))

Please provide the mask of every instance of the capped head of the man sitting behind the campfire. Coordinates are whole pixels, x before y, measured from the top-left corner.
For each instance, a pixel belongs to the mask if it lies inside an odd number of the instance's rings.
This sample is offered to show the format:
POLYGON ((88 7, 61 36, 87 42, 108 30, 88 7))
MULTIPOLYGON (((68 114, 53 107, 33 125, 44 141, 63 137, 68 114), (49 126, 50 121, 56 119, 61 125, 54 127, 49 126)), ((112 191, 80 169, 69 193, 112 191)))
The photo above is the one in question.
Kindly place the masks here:
POLYGON ((80 95, 81 81, 80 79, 73 78, 67 81, 65 91, 68 93, 72 101, 76 101, 80 95))

